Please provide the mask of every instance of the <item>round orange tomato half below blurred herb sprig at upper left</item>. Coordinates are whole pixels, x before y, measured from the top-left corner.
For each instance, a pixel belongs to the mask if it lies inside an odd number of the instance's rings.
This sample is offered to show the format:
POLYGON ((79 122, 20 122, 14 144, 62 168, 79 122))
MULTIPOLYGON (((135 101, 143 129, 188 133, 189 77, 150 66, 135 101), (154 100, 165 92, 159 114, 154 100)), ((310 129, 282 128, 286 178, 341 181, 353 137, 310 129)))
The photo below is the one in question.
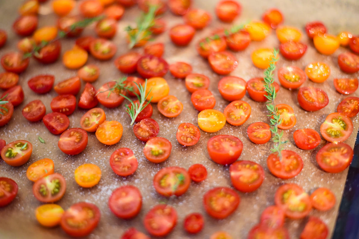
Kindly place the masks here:
POLYGON ((69 69, 78 69, 86 64, 87 58, 87 51, 81 47, 74 46, 74 48, 64 53, 62 56, 62 62, 69 69))

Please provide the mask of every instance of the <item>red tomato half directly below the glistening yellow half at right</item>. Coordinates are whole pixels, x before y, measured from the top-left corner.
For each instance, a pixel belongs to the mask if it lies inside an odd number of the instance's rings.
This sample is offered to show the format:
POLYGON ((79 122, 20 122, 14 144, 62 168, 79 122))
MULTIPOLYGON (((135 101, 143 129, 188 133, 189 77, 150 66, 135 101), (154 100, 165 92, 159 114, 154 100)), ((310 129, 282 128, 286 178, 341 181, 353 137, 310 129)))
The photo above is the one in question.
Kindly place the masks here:
POLYGON ((329 103, 329 98, 325 91, 313 86, 300 87, 297 99, 300 107, 306 111, 320 110, 329 103))

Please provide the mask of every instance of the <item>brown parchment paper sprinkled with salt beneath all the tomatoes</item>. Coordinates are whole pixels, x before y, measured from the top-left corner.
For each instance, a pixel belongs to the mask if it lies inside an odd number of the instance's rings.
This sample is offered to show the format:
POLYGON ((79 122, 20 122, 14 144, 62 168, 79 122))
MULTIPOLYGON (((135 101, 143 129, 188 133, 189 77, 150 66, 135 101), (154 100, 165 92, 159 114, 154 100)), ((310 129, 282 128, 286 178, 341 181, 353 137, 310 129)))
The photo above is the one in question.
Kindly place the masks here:
MULTIPOLYGON (((50 2, 50 1, 49 1, 50 2)), ((155 38, 155 42, 165 43, 164 58, 168 63, 176 61, 185 61, 192 65, 193 72, 202 73, 207 75, 210 80, 210 90, 213 92, 216 98, 216 105, 214 109, 223 111, 224 107, 229 103, 222 99, 220 96, 217 84, 220 76, 213 73, 206 62, 197 55, 195 50, 195 44, 197 41, 207 36, 212 29, 227 26, 219 23, 214 15, 214 6, 217 1, 196 0, 194 6, 197 8, 203 8, 213 14, 213 21, 210 28, 198 31, 190 43, 189 47, 179 48, 175 47, 169 37, 168 33, 164 33, 155 38)), ((0 55, 6 52, 16 50, 15 44, 20 39, 11 31, 11 24, 17 18, 17 9, 22 3, 20 0, 1 0, 0 1, 0 28, 6 29, 9 34, 8 42, 4 48, 0 49, 0 55)), ((306 22, 312 20, 322 20, 328 27, 328 32, 337 34, 340 30, 349 30, 354 34, 359 33, 359 27, 357 24, 359 3, 355 0, 336 1, 336 0, 302 0, 302 1, 280 1, 280 0, 257 0, 257 1, 241 1, 243 6, 242 15, 236 19, 236 23, 243 23, 251 19, 259 19, 264 10, 270 7, 279 8, 285 15, 285 24, 294 25, 303 30, 303 26, 306 22)), ((51 25, 56 23, 56 18, 50 13, 50 3, 46 3, 41 6, 41 13, 39 18, 39 26, 51 25)), ((76 12, 76 11, 74 11, 76 12)), ((133 23, 136 16, 139 14, 137 7, 127 9, 123 19, 118 22, 118 33, 113 39, 118 46, 116 56, 127 51, 127 45, 125 42, 125 34, 123 29, 129 23, 133 23)), ((168 26, 171 27, 177 23, 181 23, 181 17, 174 16, 171 13, 164 14, 164 19, 168 26)), ((85 34, 94 34, 93 28, 88 27, 85 34)), ((51 158, 55 162, 55 172, 61 173, 67 182, 67 189, 65 196, 57 202, 64 209, 67 209, 70 205, 87 201, 96 204, 101 210, 102 216, 98 227, 87 238, 119 238, 122 233, 130 226, 136 227, 138 230, 145 232, 142 221, 145 213, 154 205, 159 202, 167 202, 164 197, 158 195, 152 186, 152 180, 155 173, 167 166, 181 166, 184 168, 190 167, 194 163, 202 163, 208 170, 208 178, 201 183, 191 183, 189 190, 178 197, 171 200, 168 204, 171 204, 177 209, 178 212, 178 225, 167 238, 209 238, 209 236, 218 230, 224 230, 230 233, 233 238, 247 238, 248 231, 252 226, 256 225, 259 221, 260 213, 269 205, 274 204, 274 193, 276 189, 284 183, 298 183, 308 193, 311 193, 317 187, 329 187, 335 193, 337 203, 335 208, 328 212, 319 212, 312 210, 311 215, 320 217, 325 221, 332 234, 337 211, 339 209, 339 203, 341 200, 342 191, 345 184, 347 170, 337 174, 330 174, 323 172, 315 161, 315 155, 318 150, 325 145, 326 141, 321 140, 321 144, 313 150, 304 151, 297 148, 293 140, 293 132, 296 129, 312 128, 319 132, 321 123, 324 121, 327 114, 336 110, 339 102, 346 96, 338 94, 333 86, 333 78, 335 77, 349 77, 345 73, 341 72, 337 66, 337 56, 346 51, 344 48, 338 49, 331 56, 323 56, 316 52, 313 48, 313 44, 308 41, 307 36, 303 30, 302 41, 308 44, 307 53, 299 61, 286 61, 280 58, 277 68, 282 66, 294 65, 302 69, 312 61, 323 61, 330 65, 331 76, 324 83, 313 83, 307 80, 304 86, 315 86, 325 90, 329 96, 329 104, 322 110, 309 113, 302 110, 297 102, 297 91, 289 91, 281 88, 276 99, 276 103, 285 103, 293 107, 297 116, 297 124, 294 128, 286 130, 284 133, 284 139, 288 139, 289 143, 285 145, 285 149, 290 149, 303 158, 304 167, 302 172, 290 180, 281 180, 272 176, 266 166, 266 158, 270 153, 271 144, 255 145, 250 142, 247 137, 246 130, 248 125, 256 121, 268 122, 266 117, 265 104, 260 104, 252 101, 248 95, 244 96, 243 100, 247 101, 252 107, 252 114, 248 121, 242 126, 232 126, 226 124, 222 130, 216 133, 205 133, 201 131, 201 139, 193 147, 183 147, 177 143, 175 134, 177 126, 183 122, 190 122, 197 125, 198 111, 194 109, 190 101, 190 93, 186 90, 184 81, 173 78, 170 73, 165 76, 169 86, 170 94, 178 97, 184 105, 183 112, 177 118, 168 119, 160 115, 155 104, 153 105, 154 113, 153 118, 158 122, 160 126, 160 133, 158 136, 169 139, 172 143, 172 153, 169 159, 161 164, 153 164, 147 161, 143 155, 144 143, 135 138, 132 132, 132 126, 129 126, 130 119, 125 113, 125 104, 122 104, 117 109, 107 109, 102 107, 107 115, 108 120, 120 121, 123 125, 123 136, 119 143, 106 146, 97 141, 93 133, 89 133, 89 140, 87 148, 84 152, 77 156, 67 156, 62 153, 57 147, 59 136, 52 135, 45 128, 43 123, 29 123, 21 114, 22 108, 30 101, 34 99, 40 99, 44 102, 47 108, 47 113, 51 112, 50 101, 56 96, 55 91, 51 91, 45 95, 37 95, 32 92, 27 86, 29 78, 47 73, 53 74, 56 77, 55 83, 60 82, 66 78, 76 75, 76 71, 66 69, 61 60, 55 64, 42 65, 38 62, 31 60, 28 69, 20 75, 19 84, 22 85, 25 92, 24 102, 15 109, 13 118, 10 123, 0 128, 0 138, 6 140, 6 142, 12 142, 17 139, 25 139, 33 144, 34 150, 28 163, 20 167, 11 167, 0 161, 0 176, 13 178, 19 185, 19 193, 15 200, 8 206, 0 208, 0 238, 67 238, 68 236, 59 228, 47 229, 40 226, 34 216, 34 210, 37 206, 41 205, 32 194, 32 182, 26 178, 27 167, 42 158, 51 158), (211 161, 207 154, 206 143, 208 139, 218 134, 231 134, 243 142, 243 152, 239 159, 252 160, 260 163, 265 169, 265 181, 262 186, 252 193, 239 193, 241 196, 241 204, 238 209, 228 218, 224 220, 215 220, 206 215, 206 212, 202 206, 203 194, 215 186, 230 186, 230 178, 228 167, 218 165, 211 161), (38 137, 41 136, 46 143, 39 142, 38 137), (131 148, 137 160, 139 161, 139 168, 134 175, 127 178, 118 177, 112 172, 109 166, 109 157, 112 152, 121 147, 131 148), (102 170, 102 178, 99 184, 93 188, 85 189, 78 186, 74 180, 74 170, 76 167, 83 163, 97 164, 102 170), (135 185, 139 187, 143 195, 143 207, 141 212, 136 218, 132 220, 122 220, 116 218, 108 209, 107 201, 112 191, 115 188, 122 185, 135 185), (190 212, 201 212, 205 216, 204 230, 197 235, 188 235, 183 230, 183 219, 185 215, 190 212)), ((62 53, 70 49, 74 41, 64 39, 62 42, 62 53)), ((243 52, 234 53, 238 59, 238 67, 230 75, 239 76, 246 81, 252 77, 262 76, 263 70, 260 70, 253 66, 250 60, 250 54, 253 50, 260 47, 277 47, 278 40, 275 37, 274 32, 270 37, 266 38, 262 42, 252 42, 250 46, 243 52)), ((143 49, 137 49, 136 51, 142 52, 143 49)), ((114 66, 113 60, 100 62, 92 57, 89 57, 88 63, 96 63, 101 68, 101 76, 98 81, 93 85, 99 88, 103 83, 110 80, 117 79, 123 76, 114 66)), ((275 72, 276 73, 276 72, 275 72)), ((358 77, 358 74, 350 75, 350 77, 358 77)), ((277 79, 276 79, 277 80, 277 79)), ((82 85, 82 89, 84 84, 82 85)), ((358 92, 353 94, 358 96, 358 92)), ((79 95, 77 96, 79 99, 79 95)), ((79 127, 80 117, 86 112, 86 110, 77 109, 74 114, 70 115, 69 128, 79 127)), ((358 116, 351 118, 354 124, 354 131, 350 138, 346 140, 351 147, 354 147, 356 132, 358 131, 358 116)), ((290 238, 299 238, 306 220, 286 220, 285 226, 290 232, 290 238)), ((330 238, 330 236, 328 236, 330 238)))

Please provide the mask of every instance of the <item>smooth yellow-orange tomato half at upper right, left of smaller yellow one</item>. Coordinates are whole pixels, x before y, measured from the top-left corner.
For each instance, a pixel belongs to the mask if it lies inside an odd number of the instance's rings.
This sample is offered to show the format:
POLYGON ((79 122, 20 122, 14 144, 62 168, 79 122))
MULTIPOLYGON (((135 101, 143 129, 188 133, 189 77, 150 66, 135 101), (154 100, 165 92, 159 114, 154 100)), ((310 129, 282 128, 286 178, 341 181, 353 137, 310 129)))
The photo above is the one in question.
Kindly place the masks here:
POLYGON ((333 54, 340 45, 339 39, 330 34, 315 35, 313 43, 317 51, 325 55, 333 54))

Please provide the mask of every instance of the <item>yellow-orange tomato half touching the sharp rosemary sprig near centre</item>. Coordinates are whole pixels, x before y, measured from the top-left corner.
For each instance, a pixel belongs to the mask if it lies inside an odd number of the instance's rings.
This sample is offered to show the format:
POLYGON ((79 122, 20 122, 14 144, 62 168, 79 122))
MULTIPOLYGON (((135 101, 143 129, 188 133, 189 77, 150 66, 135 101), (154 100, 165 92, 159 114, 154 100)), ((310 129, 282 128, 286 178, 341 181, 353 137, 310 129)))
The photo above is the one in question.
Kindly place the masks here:
MULTIPOLYGON (((144 86, 144 84, 143 84, 144 86)), ((162 77, 152 77, 147 80, 146 95, 148 94, 146 100, 157 103, 160 99, 167 96, 169 93, 169 86, 167 81, 162 77)))

